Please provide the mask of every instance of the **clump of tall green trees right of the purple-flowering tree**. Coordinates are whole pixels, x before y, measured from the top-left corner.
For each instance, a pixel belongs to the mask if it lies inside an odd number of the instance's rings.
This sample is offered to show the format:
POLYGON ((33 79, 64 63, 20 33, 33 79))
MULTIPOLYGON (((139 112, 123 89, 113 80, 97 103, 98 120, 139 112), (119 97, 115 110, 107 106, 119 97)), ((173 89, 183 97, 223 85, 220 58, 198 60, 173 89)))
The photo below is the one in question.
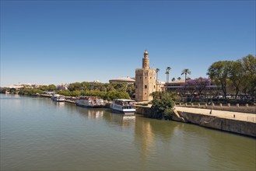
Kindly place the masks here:
POLYGON ((209 77, 220 85, 224 97, 227 90, 233 90, 236 96, 239 92, 249 94, 256 99, 256 58, 254 55, 247 55, 237 61, 217 61, 208 69, 209 77))

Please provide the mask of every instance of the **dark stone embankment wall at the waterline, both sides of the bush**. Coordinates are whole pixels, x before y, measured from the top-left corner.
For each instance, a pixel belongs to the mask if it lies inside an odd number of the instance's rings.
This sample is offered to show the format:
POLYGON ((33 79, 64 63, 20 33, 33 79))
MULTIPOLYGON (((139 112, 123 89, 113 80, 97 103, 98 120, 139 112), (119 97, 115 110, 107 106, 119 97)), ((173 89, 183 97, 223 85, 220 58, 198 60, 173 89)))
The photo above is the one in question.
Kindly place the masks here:
MULTIPOLYGON (((143 114, 146 117, 151 110, 146 106, 136 106, 136 113, 143 114)), ((221 117, 213 117, 196 113, 184 113, 174 110, 173 120, 198 124, 202 127, 209 127, 221 131, 229 131, 237 134, 244 134, 256 137, 256 124, 253 122, 246 122, 241 120, 232 120, 221 117)))

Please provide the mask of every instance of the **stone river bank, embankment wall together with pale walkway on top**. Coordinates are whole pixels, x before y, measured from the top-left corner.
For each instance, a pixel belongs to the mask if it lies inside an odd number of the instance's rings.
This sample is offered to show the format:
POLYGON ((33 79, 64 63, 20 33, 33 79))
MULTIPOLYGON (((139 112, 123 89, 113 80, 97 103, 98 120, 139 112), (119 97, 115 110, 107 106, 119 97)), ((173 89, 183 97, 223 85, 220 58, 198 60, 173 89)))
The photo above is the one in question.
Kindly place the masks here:
MULTIPOLYGON (((222 110, 212 110, 212 113, 210 113, 210 111, 175 106, 172 120, 256 137, 256 115, 254 113, 238 113, 222 110)), ((150 112, 151 109, 149 106, 136 107, 136 113, 140 113, 145 117, 150 112)))

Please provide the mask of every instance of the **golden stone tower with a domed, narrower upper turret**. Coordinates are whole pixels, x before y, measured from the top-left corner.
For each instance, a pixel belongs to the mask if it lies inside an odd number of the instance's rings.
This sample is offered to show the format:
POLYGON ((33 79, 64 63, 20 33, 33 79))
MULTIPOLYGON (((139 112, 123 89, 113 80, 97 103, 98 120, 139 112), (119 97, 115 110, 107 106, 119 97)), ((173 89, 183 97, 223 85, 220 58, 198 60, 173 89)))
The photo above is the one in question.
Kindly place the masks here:
POLYGON ((149 67, 149 52, 144 52, 142 58, 142 68, 135 71, 135 99, 136 101, 149 101, 153 96, 149 96, 156 91, 156 69, 149 67))

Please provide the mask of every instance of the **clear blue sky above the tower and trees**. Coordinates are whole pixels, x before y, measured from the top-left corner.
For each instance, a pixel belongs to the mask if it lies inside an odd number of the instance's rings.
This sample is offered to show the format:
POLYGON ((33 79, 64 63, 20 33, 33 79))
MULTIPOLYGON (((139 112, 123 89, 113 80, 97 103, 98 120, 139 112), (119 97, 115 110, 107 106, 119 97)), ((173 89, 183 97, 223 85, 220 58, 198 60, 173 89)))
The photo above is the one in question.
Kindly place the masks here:
POLYGON ((1 1, 1 86, 135 76, 166 81, 255 53, 255 1, 1 1))

